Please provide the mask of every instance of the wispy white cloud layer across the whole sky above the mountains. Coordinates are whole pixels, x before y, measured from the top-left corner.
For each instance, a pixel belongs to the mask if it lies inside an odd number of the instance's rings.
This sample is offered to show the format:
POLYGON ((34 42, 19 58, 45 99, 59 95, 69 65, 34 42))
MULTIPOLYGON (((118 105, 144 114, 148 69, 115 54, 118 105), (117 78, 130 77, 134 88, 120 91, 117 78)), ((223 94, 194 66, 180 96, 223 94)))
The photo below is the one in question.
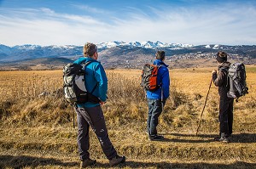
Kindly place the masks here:
MULTIPOLYGON (((95 13, 98 11, 88 6, 83 8, 95 13)), ((150 14, 137 8, 129 9, 134 13, 129 12, 125 18, 103 11, 104 17, 111 20, 108 22, 94 15, 58 14, 49 8, 0 8, 0 43, 83 45, 84 42, 148 40, 192 44, 256 42, 256 8, 247 4, 195 8, 150 7, 150 14)))

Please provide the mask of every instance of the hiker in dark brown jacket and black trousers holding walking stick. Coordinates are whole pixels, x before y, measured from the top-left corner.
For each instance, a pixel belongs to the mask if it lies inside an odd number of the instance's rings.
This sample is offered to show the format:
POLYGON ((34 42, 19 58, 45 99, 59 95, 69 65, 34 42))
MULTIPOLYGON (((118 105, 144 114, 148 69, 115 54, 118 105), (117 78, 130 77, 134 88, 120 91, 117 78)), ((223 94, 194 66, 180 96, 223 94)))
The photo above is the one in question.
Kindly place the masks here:
POLYGON ((212 70, 212 79, 215 86, 218 87, 219 94, 219 136, 214 138, 214 140, 229 143, 232 134, 234 103, 234 99, 228 98, 227 96, 227 93, 229 92, 227 76, 230 62, 227 62, 227 54, 222 51, 218 52, 216 59, 219 64, 218 73, 217 70, 212 70))

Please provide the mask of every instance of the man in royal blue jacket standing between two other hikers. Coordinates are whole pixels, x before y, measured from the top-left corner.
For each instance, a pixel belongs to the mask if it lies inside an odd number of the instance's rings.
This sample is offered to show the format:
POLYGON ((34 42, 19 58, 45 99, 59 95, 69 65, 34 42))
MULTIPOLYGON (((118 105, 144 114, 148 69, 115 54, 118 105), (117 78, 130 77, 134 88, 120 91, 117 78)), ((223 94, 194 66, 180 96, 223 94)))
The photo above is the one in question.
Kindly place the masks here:
POLYGON ((160 141, 164 139, 163 136, 157 134, 156 127, 158 125, 158 118, 166 104, 166 99, 169 97, 170 76, 168 65, 164 63, 166 53, 164 51, 158 51, 155 54, 156 59, 154 65, 159 65, 160 68, 157 74, 157 84, 160 87, 154 91, 147 91, 148 99, 148 121, 147 132, 149 140, 160 141))

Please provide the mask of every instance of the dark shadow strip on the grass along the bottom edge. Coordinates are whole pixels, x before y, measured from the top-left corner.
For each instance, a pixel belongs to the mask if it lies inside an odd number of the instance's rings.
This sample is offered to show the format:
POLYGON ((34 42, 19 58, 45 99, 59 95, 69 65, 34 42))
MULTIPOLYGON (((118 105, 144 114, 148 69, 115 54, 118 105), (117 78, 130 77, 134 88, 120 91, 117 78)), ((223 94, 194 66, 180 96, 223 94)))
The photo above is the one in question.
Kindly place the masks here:
MULTIPOLYGON (((129 161, 127 159, 125 163, 119 164, 116 168, 255 168, 256 163, 248 163, 244 161, 236 161, 229 164, 214 164, 207 162, 166 162, 165 159, 159 162, 150 162, 150 158, 145 161, 129 161)), ((169 161, 169 159, 167 159, 169 161)), ((172 160, 172 159, 171 159, 172 160)), ((79 168, 78 162, 63 162, 56 160, 54 158, 43 158, 43 157, 32 157, 27 155, 0 155, 0 168, 24 168, 24 167, 61 167, 61 168, 79 168)), ((91 168, 103 167, 103 168, 113 168, 109 166, 108 163, 97 162, 95 166, 91 168)))

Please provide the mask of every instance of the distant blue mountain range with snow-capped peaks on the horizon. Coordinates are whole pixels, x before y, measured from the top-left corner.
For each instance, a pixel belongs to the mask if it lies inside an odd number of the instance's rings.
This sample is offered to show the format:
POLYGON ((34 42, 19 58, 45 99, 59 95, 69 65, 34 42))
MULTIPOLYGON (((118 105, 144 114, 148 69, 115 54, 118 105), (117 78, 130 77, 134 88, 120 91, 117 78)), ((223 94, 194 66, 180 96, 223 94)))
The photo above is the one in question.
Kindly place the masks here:
MULTIPOLYGON (((241 54, 241 56, 250 56, 255 58, 256 46, 239 45, 228 46, 219 44, 192 45, 182 43, 166 42, 100 42, 96 44, 102 57, 118 57, 138 55, 154 55, 158 49, 165 50, 167 56, 175 54, 196 54, 196 53, 215 53, 218 50, 225 50, 228 53, 241 54)), ((40 58, 68 58, 73 59, 83 55, 83 45, 16 45, 9 47, 0 44, 0 62, 7 63, 15 60, 40 59, 40 58)))

